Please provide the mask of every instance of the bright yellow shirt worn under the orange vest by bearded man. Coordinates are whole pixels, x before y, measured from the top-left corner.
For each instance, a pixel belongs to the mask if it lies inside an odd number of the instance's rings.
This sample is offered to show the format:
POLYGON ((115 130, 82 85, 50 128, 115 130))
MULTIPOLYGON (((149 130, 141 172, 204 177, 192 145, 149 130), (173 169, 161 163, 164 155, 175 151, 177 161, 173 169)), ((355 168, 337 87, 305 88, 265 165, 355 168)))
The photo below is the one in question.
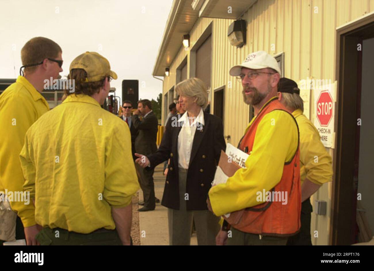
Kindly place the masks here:
POLYGON ((291 161, 297 144, 297 126, 290 114, 281 110, 266 114, 258 124, 252 153, 245 162, 245 168, 237 170, 225 184, 209 190, 215 215, 260 204, 256 193, 263 189, 270 191, 281 181, 284 163, 291 161))

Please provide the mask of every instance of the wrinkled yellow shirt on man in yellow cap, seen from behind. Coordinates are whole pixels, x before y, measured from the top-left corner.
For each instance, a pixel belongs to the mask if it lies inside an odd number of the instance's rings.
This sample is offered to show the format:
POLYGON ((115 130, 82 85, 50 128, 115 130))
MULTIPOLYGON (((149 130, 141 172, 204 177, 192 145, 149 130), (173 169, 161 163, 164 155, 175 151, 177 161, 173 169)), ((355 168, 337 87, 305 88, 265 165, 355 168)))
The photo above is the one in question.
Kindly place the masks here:
POLYGON ((127 125, 87 95, 69 95, 27 131, 25 191, 43 227, 113 230, 111 207, 131 203, 139 184, 127 125))

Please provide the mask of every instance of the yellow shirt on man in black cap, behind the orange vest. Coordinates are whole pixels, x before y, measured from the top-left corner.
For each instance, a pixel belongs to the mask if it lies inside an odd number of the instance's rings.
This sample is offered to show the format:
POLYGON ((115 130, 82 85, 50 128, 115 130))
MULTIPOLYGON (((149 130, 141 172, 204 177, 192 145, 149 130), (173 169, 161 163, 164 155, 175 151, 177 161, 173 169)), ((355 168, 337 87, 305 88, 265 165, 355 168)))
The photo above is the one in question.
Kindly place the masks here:
POLYGON ((332 159, 321 142, 316 127, 298 109, 292 112, 300 131, 300 180, 322 185, 332 179, 332 159))

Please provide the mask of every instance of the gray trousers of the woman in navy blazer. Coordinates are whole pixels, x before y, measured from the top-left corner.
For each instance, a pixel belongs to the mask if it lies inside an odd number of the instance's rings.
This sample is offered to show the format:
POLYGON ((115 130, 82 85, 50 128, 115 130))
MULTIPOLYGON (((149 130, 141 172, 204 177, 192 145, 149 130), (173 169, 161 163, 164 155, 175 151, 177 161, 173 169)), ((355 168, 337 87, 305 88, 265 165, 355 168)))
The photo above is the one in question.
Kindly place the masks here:
POLYGON ((179 210, 168 208, 169 244, 190 245, 192 222, 195 222, 197 244, 215 245, 220 230, 220 218, 209 210, 187 211, 186 193, 187 169, 179 169, 179 210))

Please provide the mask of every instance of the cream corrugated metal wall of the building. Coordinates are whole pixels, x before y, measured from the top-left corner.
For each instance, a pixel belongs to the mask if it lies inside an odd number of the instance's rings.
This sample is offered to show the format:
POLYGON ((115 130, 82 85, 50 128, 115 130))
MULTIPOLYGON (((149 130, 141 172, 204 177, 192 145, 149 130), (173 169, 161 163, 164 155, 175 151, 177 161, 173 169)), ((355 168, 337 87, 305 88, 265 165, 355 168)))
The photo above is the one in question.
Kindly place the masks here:
MULTIPOLYGON (((248 124, 249 108, 243 103, 241 85, 229 75, 233 65, 240 64, 250 52, 265 50, 272 55, 285 53, 285 74, 296 82, 301 79, 335 80, 335 28, 374 11, 374 0, 258 0, 243 15, 247 22, 247 42, 240 49, 230 45, 227 28, 233 20, 200 18, 190 32, 191 46, 213 21, 212 26, 212 92, 226 86, 224 135, 237 145, 248 124), (275 47, 275 48, 274 48, 275 47), (272 50, 274 49, 274 50, 272 50)), ((175 84, 176 68, 189 52, 181 47, 165 77, 164 94, 175 84)), ((188 74, 190 61, 187 59, 188 74)), ((213 97, 214 95, 212 95, 213 97)), ((313 92, 310 105, 313 105, 313 92)), ((212 99, 211 108, 214 108, 212 99)), ((310 116, 314 116, 313 107, 310 116)), ((312 122, 314 117, 312 117, 312 122)), ((332 149, 329 153, 332 155, 332 149)), ((318 231, 313 244, 328 244, 331 208, 331 182, 312 198, 327 201, 327 215, 312 215, 311 230, 318 231)))

